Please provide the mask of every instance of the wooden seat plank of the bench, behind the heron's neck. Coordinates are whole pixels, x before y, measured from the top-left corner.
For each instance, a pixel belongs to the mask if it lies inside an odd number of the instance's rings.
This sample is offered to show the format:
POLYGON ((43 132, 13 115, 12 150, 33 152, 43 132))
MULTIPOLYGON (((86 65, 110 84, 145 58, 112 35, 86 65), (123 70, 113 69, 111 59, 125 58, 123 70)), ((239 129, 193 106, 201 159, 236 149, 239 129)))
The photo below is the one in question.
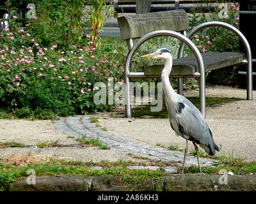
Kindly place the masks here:
MULTIPOLYGON (((202 53, 204 59, 205 72, 214 69, 225 68, 235 64, 240 64, 244 60, 241 52, 205 52, 202 53)), ((159 76, 164 64, 154 64, 144 68, 145 76, 159 76)), ((193 76, 198 72, 198 62, 195 55, 173 60, 171 76, 193 76)))

